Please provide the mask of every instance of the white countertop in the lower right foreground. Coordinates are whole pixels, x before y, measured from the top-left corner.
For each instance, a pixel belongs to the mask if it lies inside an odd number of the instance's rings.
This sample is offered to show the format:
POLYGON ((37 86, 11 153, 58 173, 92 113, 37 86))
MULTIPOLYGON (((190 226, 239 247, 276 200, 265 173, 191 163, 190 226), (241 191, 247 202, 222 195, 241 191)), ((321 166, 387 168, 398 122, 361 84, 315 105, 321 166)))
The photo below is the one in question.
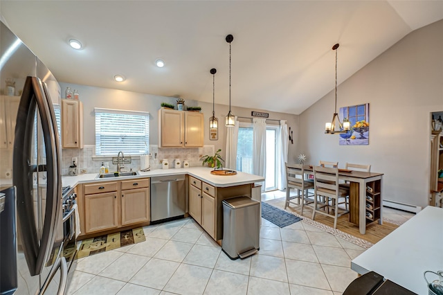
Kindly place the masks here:
POLYGON ((443 208, 427 206, 352 260, 351 269, 375 271, 412 292, 428 294, 424 271, 443 270, 443 208))

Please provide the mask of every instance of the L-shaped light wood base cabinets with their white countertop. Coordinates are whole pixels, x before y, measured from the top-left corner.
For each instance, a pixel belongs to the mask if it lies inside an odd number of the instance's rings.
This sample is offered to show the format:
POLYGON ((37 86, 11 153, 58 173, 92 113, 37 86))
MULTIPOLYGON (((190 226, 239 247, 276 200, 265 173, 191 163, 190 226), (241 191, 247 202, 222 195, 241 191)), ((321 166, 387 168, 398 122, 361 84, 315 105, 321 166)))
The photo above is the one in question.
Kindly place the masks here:
POLYGON ((81 235, 91 237, 98 233, 108 233, 124 227, 150 224, 150 211, 155 210, 155 208, 150 208, 150 178, 186 175, 186 208, 214 240, 221 240, 223 235, 221 202, 230 197, 252 197, 253 185, 256 182, 264 181, 264 178, 244 172, 237 172, 237 175, 229 176, 212 175, 210 173, 212 170, 212 168, 192 167, 139 171, 138 175, 107 179, 97 178, 97 174, 85 174, 63 177, 62 184, 76 188, 81 235), (127 202, 126 199, 123 199, 123 190, 128 181, 135 180, 137 181, 134 184, 141 186, 138 190, 144 191, 146 197, 139 198, 139 200, 145 200, 143 204, 130 204, 140 213, 131 219, 125 216, 123 210, 125 202, 127 202), (192 195, 192 192, 197 193, 192 195), (91 206, 93 204, 90 202, 91 199, 99 199, 100 206, 91 206), (142 212, 143 210, 145 213, 142 212))

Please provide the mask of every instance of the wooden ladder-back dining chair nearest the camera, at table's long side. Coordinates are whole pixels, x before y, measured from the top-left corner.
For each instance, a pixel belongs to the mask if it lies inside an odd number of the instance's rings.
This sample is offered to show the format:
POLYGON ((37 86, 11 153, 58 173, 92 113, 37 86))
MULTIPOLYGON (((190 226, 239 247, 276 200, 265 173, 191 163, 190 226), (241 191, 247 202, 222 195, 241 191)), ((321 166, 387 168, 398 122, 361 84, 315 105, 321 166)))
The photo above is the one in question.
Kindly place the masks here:
POLYGON ((338 184, 338 168, 326 168, 314 166, 314 212, 312 220, 315 219, 316 213, 334 218, 334 229, 337 226, 337 218, 343 214, 349 213, 342 210, 338 213, 338 198, 346 197, 349 190, 340 188, 338 184), (325 211, 324 209, 328 210, 325 211), (332 210, 329 213, 329 208, 332 210), (323 209, 323 210, 322 210, 323 209))

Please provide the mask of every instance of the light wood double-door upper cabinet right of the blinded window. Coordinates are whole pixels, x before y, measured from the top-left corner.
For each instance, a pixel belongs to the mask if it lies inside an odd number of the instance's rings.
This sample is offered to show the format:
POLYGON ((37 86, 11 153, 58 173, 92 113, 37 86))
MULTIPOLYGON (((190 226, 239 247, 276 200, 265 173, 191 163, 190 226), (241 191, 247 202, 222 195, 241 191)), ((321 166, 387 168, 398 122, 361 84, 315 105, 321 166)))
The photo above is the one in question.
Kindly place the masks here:
POLYGON ((202 113, 159 109, 159 147, 202 147, 203 139, 202 113))

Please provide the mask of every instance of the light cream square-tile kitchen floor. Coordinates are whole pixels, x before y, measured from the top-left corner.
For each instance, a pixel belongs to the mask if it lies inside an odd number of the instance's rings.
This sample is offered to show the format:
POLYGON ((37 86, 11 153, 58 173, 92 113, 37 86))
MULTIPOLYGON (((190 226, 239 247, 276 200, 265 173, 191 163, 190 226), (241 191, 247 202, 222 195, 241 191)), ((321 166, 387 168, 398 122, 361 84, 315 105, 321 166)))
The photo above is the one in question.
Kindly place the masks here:
POLYGON ((144 231, 145 242, 76 260, 67 294, 342 294, 365 250, 303 222, 262 219, 260 251, 244 260, 230 260, 192 218, 144 231))

